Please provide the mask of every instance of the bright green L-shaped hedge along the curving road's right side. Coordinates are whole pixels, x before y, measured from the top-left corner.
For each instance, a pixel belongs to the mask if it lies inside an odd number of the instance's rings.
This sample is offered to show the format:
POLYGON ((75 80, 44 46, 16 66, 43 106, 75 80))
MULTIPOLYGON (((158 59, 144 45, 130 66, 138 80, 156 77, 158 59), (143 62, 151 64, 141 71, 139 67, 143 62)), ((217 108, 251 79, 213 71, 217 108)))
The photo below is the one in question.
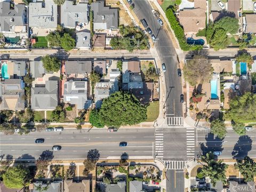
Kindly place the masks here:
POLYGON ((203 49, 202 45, 187 44, 187 39, 185 37, 184 30, 181 27, 180 23, 177 21, 175 15, 174 15, 174 12, 173 12, 173 8, 167 9, 165 11, 165 15, 166 15, 167 19, 169 20, 169 23, 171 25, 172 30, 174 31, 176 38, 179 41, 180 48, 182 51, 190 51, 190 50, 193 51, 193 50, 203 49))

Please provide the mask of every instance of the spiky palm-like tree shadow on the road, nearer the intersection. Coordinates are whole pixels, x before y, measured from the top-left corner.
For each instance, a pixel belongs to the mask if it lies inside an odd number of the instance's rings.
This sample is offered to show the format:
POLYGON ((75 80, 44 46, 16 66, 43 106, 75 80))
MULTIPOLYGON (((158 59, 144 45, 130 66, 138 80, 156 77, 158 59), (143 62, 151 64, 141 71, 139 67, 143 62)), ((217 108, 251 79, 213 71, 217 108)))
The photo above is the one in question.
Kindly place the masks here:
POLYGON ((205 145, 204 143, 200 144, 202 155, 206 155, 209 152, 223 150, 222 148, 223 139, 214 137, 213 133, 207 133, 207 135, 205 135, 205 140, 206 140, 205 145))

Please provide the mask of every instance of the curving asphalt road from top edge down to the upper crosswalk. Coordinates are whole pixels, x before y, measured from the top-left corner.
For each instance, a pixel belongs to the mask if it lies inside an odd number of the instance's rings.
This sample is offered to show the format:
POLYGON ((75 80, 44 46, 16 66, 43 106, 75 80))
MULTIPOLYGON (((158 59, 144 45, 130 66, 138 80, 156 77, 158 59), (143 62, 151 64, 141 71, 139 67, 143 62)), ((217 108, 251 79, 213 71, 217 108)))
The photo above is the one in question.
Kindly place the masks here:
POLYGON ((175 52, 172 41, 169 34, 166 31, 165 26, 161 27, 151 12, 152 7, 146 0, 134 0, 133 11, 137 17, 146 19, 148 27, 153 31, 153 34, 158 39, 154 46, 158 55, 166 66, 165 84, 167 90, 166 100, 166 114, 182 117, 182 105, 180 103, 180 94, 182 93, 181 78, 178 77, 178 60, 177 53, 175 52), (170 94, 169 94, 170 93, 170 94))

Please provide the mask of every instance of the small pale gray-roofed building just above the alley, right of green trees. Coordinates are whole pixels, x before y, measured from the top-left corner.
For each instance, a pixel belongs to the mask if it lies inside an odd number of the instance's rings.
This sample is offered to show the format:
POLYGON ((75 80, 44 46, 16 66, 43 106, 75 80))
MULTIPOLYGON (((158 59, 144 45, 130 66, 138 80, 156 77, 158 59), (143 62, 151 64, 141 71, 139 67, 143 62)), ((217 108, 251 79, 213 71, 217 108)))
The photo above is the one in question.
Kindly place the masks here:
POLYGON ((76 33, 76 48, 78 49, 91 48, 91 33, 89 30, 82 30, 76 33))

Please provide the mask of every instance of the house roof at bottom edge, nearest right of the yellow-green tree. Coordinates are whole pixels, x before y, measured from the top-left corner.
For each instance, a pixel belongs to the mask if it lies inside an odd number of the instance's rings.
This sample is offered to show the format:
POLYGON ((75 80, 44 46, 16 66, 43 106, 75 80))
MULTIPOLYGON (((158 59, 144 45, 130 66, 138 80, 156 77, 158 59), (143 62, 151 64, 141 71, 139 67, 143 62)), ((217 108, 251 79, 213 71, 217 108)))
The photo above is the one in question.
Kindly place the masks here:
POLYGON ((52 181, 51 183, 43 183, 42 181, 36 181, 29 185, 30 192, 41 192, 42 188, 44 192, 62 192, 63 182, 62 181, 52 181))

